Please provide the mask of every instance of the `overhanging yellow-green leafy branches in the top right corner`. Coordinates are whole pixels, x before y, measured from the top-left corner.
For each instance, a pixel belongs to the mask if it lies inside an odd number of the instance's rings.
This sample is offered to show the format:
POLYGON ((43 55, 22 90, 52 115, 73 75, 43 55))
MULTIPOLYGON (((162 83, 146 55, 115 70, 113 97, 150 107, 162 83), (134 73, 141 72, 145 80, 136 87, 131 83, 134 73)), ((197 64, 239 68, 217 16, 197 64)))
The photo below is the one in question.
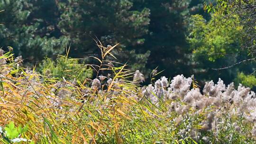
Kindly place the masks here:
POLYGON ((255 54, 256 50, 256 0, 206 0, 204 7, 208 12, 216 12, 224 15, 224 19, 231 20, 233 16, 239 16, 239 21, 243 25, 244 33, 243 48, 249 49, 255 54))

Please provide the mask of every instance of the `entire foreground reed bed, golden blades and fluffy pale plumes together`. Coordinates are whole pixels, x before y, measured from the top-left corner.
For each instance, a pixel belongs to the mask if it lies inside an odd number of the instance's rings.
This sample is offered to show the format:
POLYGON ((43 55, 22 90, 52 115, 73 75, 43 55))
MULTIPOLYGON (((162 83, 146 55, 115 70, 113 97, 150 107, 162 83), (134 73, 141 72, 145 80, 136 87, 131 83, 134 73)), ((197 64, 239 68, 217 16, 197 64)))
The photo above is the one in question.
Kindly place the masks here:
POLYGON ((84 65, 91 66, 96 77, 85 81, 43 76, 23 68, 22 59, 11 51, 0 51, 2 143, 255 143, 256 96, 249 88, 240 85, 235 90, 233 83, 226 87, 219 79, 200 91, 193 77, 183 75, 141 87, 142 73, 105 60, 114 57, 110 52, 117 45, 97 45, 101 57, 89 58, 98 64, 84 65), (26 133, 9 139, 4 127, 10 122, 27 126, 26 133))

